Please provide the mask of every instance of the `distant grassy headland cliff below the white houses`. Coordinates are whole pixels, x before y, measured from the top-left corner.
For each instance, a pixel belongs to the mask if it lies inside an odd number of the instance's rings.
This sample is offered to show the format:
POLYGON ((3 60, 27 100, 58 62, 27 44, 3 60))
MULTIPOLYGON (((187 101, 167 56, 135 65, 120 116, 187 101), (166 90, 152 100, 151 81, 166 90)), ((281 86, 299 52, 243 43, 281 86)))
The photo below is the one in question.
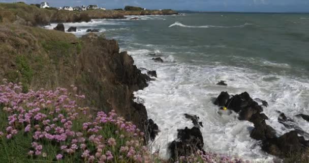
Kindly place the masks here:
POLYGON ((173 15, 173 10, 116 11, 89 10, 83 12, 39 9, 22 3, 0 3, 0 23, 21 23, 23 25, 48 25, 52 22, 81 22, 90 19, 123 19, 126 15, 173 15))

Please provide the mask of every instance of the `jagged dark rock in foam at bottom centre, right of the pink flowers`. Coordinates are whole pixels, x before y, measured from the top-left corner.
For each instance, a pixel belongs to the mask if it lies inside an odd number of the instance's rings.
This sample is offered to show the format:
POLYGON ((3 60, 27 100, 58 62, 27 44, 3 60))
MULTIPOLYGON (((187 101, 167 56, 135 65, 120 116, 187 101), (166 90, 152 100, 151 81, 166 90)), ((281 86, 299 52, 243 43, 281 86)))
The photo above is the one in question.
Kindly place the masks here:
POLYGON ((178 129, 177 138, 179 141, 173 141, 168 147, 173 160, 177 160, 180 156, 190 156, 198 150, 203 150, 203 136, 198 127, 178 129))

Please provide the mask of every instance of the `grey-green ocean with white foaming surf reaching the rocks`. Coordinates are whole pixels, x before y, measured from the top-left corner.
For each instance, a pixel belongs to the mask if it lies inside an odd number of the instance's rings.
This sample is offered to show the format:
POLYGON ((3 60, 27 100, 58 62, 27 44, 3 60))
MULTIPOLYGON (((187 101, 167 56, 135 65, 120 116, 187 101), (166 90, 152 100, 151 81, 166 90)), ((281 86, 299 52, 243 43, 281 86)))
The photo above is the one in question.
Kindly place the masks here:
POLYGON ((138 68, 157 71, 158 78, 135 93, 161 130, 152 151, 168 157, 167 144, 176 139, 177 129, 193 127, 183 116, 188 113, 203 122, 206 151, 271 161, 260 142, 250 138, 251 122, 238 120, 235 113, 218 114, 212 101, 221 91, 232 95, 246 91, 252 98, 266 100, 266 123, 278 136, 293 128, 278 122, 277 111, 309 132, 309 123, 295 117, 309 115, 309 14, 128 16, 132 17, 140 19, 97 19, 65 26, 77 26, 77 36, 90 28, 100 29, 106 38, 119 42, 121 51, 128 51, 138 68), (150 53, 165 62, 154 62, 150 53), (220 80, 228 86, 215 85, 220 80))

